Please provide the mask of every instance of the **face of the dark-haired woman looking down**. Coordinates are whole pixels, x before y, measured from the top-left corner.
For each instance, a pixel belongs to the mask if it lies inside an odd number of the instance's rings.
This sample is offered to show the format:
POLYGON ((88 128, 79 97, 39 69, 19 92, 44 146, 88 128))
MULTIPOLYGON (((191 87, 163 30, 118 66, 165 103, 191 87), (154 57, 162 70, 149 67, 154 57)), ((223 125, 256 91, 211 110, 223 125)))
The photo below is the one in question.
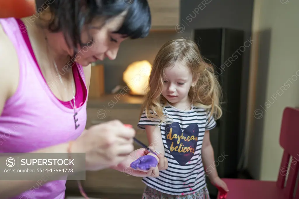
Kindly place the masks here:
MULTIPOLYGON (((87 43, 87 46, 79 49, 79 52, 76 54, 76 62, 82 66, 87 66, 91 62, 96 62, 97 60, 103 61, 106 57, 110 60, 115 59, 120 43, 125 40, 125 38, 123 38, 123 35, 115 34, 113 32, 121 27, 124 16, 125 13, 120 14, 119 16, 110 19, 100 29, 92 28, 89 30, 89 34, 93 39, 88 40, 90 37, 88 36, 87 31, 83 31, 82 41, 87 43)), ((102 23, 102 20, 98 20, 91 24, 91 26, 100 27, 102 23)))

